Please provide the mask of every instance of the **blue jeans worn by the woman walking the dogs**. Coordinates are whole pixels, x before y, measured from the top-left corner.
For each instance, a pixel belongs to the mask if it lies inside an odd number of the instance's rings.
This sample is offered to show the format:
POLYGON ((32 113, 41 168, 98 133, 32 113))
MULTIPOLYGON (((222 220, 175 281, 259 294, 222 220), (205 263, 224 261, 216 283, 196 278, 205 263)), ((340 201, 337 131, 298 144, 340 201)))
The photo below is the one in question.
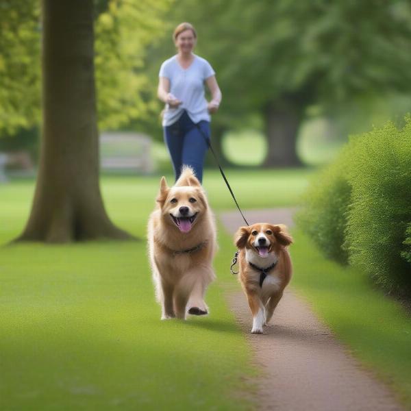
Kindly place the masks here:
MULTIPOLYGON (((210 123, 200 121, 199 127, 210 140, 210 123)), ((164 127, 164 142, 173 162, 175 180, 182 171, 182 166, 191 166, 200 182, 203 181, 203 164, 208 145, 187 112, 172 125, 164 127)))

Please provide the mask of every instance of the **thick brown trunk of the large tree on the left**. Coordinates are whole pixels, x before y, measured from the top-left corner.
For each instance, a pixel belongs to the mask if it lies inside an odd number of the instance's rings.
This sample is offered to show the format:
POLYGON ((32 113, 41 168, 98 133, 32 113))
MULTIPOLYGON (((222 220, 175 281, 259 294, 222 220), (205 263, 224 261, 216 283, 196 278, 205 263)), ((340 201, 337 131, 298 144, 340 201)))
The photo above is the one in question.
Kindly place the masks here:
POLYGON ((17 240, 131 238, 108 218, 99 189, 93 0, 43 0, 42 22, 42 147, 17 240))

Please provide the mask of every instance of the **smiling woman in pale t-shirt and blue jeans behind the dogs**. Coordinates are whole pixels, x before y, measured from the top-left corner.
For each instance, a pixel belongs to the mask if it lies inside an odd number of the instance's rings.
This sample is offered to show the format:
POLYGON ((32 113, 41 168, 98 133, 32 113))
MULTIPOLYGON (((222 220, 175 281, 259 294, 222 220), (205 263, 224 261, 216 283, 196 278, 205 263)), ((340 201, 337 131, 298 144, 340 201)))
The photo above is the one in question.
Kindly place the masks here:
POLYGON ((176 181, 182 166, 189 165, 202 182, 208 145, 197 125, 210 138, 210 114, 219 110, 221 91, 212 66, 192 53, 197 42, 194 27, 190 23, 181 23, 173 38, 177 54, 162 64, 158 84, 158 98, 166 103, 162 121, 164 141, 171 155, 176 181), (209 103, 204 83, 212 95, 209 103))

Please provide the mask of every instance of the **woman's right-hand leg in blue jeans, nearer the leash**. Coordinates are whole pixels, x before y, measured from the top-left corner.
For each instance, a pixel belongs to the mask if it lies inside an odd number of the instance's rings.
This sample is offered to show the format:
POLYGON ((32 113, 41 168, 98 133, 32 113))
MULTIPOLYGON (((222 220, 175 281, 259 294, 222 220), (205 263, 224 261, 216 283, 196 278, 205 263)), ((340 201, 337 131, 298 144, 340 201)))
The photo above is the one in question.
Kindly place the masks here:
MULTIPOLYGON (((200 121, 199 127, 201 127, 203 134, 210 140, 210 123, 208 121, 200 121)), ((199 182, 203 181, 203 164, 207 150, 208 144, 206 140, 204 140, 197 126, 192 123, 192 127, 190 127, 184 137, 182 163, 192 167, 199 182)))

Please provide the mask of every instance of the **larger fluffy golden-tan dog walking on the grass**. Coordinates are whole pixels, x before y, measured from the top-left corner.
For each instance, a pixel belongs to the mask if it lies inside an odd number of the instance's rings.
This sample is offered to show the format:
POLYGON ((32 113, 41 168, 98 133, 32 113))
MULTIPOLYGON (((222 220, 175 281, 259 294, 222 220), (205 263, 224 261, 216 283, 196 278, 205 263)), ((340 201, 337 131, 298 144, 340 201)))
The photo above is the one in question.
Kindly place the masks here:
POLYGON ((190 167, 173 187, 160 181, 148 224, 149 259, 162 319, 208 314, 206 288, 215 278, 216 228, 206 193, 190 167))

